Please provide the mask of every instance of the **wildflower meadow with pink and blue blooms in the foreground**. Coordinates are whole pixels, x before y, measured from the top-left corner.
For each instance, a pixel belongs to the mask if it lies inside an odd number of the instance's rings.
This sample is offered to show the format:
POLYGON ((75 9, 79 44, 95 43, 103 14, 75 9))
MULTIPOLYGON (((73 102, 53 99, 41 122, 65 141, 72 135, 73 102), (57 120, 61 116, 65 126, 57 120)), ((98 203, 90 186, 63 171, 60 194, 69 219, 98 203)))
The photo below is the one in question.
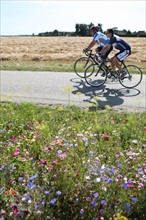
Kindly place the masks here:
POLYGON ((145 113, 1 103, 0 114, 1 219, 146 219, 145 113))

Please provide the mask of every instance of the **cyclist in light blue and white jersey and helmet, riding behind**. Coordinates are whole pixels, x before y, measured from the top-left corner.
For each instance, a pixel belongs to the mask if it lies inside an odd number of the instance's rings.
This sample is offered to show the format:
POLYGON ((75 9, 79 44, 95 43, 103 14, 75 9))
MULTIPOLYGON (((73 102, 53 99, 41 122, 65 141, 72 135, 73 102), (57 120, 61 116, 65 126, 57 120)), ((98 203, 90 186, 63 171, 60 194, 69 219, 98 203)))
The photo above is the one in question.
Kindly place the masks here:
MULTIPOLYGON (((98 56, 98 53, 100 53, 100 51, 104 48, 104 46, 109 43, 110 39, 107 38, 105 34, 101 33, 99 31, 99 28, 95 25, 92 25, 90 27, 90 34, 93 36, 93 40, 90 42, 89 46, 84 49, 84 51, 90 50, 93 46, 99 44, 100 46, 98 46, 95 50, 98 56)), ((108 56, 108 54, 112 51, 112 49, 113 49, 112 46, 109 47, 109 49, 104 54, 104 58, 108 56)))

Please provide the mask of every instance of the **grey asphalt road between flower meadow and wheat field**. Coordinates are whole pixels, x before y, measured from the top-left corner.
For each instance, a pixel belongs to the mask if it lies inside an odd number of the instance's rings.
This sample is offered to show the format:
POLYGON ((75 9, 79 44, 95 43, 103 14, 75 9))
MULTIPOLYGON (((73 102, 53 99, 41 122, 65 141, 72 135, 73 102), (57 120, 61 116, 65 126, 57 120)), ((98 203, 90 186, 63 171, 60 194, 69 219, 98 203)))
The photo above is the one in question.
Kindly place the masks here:
POLYGON ((110 105, 128 111, 146 110, 146 75, 139 86, 126 89, 119 82, 93 88, 75 73, 1 71, 0 100, 44 105, 76 105, 100 108, 110 105))

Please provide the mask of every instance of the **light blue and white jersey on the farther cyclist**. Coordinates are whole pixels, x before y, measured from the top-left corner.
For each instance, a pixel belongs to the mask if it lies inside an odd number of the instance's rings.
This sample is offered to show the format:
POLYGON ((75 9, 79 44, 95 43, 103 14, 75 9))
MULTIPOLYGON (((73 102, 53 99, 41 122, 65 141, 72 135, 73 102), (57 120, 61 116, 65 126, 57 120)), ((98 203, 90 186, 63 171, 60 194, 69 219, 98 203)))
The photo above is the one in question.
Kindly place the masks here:
POLYGON ((110 41, 110 38, 107 38, 107 36, 101 33, 100 31, 94 34, 93 39, 96 41, 97 44, 99 44, 102 47, 104 47, 110 41))

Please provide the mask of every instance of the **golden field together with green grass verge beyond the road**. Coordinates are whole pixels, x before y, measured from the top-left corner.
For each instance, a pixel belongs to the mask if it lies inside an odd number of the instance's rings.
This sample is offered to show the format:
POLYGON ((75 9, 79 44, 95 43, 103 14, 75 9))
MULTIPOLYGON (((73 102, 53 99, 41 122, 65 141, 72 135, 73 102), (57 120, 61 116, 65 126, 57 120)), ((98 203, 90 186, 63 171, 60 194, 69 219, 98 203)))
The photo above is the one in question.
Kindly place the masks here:
MULTIPOLYGON (((124 39, 132 47, 127 62, 145 68, 146 39, 124 39)), ((83 55, 91 40, 92 37, 1 37, 1 70, 72 72, 75 60, 83 55)))

